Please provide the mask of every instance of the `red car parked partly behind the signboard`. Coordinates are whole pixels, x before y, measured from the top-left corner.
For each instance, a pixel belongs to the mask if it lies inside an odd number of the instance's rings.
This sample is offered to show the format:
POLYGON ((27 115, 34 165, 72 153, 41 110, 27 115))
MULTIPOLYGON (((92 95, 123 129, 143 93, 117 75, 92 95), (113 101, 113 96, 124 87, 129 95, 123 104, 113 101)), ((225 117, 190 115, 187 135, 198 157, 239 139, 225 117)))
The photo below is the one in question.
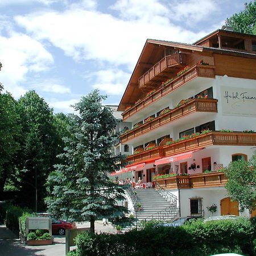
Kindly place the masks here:
POLYGON ((76 222, 69 222, 64 220, 57 220, 52 214, 49 213, 37 213, 39 217, 49 217, 52 219, 52 234, 64 235, 66 229, 76 228, 76 222))

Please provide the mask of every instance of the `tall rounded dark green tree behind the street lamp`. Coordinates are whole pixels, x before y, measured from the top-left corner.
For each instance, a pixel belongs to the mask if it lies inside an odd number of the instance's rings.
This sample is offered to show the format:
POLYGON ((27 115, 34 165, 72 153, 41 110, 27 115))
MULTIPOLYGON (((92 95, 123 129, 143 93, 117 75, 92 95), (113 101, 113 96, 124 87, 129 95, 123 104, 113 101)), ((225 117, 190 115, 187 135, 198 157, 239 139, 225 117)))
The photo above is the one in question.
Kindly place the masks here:
MULTIPOLYGON (((20 150, 16 157, 16 168, 21 171, 26 160, 30 172, 16 175, 17 186, 20 190, 20 203, 34 206, 35 195, 35 168, 38 170, 38 200, 39 206, 43 205, 46 197, 46 179, 49 172, 53 171, 56 163, 57 133, 53 126, 53 110, 46 101, 31 90, 18 100, 18 113, 22 136, 19 138, 20 150)), ((40 207, 39 207, 40 208, 40 207)))

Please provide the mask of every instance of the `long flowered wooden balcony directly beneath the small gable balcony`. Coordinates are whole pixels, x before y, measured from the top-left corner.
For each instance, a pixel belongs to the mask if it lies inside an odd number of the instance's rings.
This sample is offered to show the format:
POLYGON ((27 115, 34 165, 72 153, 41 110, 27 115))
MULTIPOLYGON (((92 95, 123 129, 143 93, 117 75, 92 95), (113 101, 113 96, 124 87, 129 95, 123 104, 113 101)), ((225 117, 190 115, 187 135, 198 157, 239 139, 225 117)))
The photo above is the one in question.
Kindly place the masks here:
POLYGON ((144 98, 143 100, 139 101, 137 104, 123 112, 123 121, 139 112, 139 110, 146 108, 148 105, 151 105, 163 96, 166 96, 167 94, 171 93, 173 90, 179 88, 180 86, 183 86, 186 82, 194 79, 195 77, 214 78, 214 66, 197 64, 193 65, 191 68, 188 69, 188 71, 183 73, 181 76, 175 77, 175 79, 170 81, 167 85, 163 86, 162 88, 159 88, 155 91, 155 93, 144 98))

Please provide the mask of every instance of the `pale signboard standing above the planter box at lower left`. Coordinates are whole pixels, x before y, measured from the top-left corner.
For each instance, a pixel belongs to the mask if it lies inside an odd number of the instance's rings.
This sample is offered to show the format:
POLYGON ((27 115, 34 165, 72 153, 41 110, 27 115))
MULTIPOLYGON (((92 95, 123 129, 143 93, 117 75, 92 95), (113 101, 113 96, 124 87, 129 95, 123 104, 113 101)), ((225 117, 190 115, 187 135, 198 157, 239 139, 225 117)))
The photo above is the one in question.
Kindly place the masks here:
POLYGON ((27 217, 26 218, 26 234, 31 229, 47 229, 52 235, 52 219, 48 217, 27 217))

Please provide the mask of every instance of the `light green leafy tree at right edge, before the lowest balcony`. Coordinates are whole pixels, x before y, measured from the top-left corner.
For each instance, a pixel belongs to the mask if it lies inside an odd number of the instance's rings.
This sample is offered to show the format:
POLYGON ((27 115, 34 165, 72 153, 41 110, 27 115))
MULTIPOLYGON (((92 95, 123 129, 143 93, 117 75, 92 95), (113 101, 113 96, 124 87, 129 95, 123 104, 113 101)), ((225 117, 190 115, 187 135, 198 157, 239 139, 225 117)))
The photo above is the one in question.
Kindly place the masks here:
POLYGON ((225 168, 228 177, 226 189, 233 200, 238 201, 241 210, 256 209, 256 154, 246 162, 237 160, 225 168))

